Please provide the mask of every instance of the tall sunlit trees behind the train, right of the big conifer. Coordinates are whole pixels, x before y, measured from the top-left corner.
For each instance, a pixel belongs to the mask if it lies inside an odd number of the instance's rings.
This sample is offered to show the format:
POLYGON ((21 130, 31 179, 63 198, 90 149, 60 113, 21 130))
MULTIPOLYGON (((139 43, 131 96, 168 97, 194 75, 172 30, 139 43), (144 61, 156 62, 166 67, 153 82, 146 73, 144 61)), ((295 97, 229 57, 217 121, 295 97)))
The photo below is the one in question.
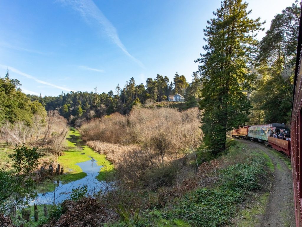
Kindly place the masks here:
POLYGON ((296 2, 275 15, 260 42, 250 124, 289 124, 291 120, 300 9, 296 2))

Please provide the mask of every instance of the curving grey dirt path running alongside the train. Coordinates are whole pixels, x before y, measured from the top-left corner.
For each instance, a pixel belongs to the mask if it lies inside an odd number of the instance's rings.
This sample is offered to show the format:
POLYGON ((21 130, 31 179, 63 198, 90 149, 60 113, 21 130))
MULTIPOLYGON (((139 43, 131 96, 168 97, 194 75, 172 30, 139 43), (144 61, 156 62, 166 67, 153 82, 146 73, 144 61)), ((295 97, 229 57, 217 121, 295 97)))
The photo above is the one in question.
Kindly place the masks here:
POLYGON ((259 227, 294 227, 295 211, 292 173, 287 164, 276 153, 275 150, 248 140, 240 140, 252 148, 258 148, 265 152, 272 160, 275 171, 271 186, 271 194, 266 207, 265 214, 260 218, 259 227))

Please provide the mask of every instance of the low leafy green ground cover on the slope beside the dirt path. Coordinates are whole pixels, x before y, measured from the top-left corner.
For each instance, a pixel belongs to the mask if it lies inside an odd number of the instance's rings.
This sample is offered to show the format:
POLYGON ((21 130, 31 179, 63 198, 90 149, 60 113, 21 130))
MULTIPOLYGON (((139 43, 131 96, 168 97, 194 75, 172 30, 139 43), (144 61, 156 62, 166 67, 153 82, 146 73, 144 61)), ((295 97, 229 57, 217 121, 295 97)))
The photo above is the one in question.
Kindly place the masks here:
POLYGON ((188 220, 192 226, 227 225, 246 199, 246 192, 260 188, 258 181, 263 175, 263 160, 254 158, 249 164, 232 165, 220 174, 223 179, 220 186, 187 194, 168 216, 188 220))

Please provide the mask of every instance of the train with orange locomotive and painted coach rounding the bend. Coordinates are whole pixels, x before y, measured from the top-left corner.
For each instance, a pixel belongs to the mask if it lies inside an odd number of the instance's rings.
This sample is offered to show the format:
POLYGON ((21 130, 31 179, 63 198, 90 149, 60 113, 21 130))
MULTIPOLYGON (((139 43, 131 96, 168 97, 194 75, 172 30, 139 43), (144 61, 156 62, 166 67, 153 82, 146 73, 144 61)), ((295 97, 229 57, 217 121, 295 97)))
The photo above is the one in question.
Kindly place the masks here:
POLYGON ((264 125, 243 126, 234 129, 231 134, 233 138, 240 138, 264 143, 271 146, 275 150, 284 153, 286 156, 291 156, 291 139, 284 137, 273 137, 274 133, 284 130, 286 133, 290 128, 281 123, 272 123, 264 125))

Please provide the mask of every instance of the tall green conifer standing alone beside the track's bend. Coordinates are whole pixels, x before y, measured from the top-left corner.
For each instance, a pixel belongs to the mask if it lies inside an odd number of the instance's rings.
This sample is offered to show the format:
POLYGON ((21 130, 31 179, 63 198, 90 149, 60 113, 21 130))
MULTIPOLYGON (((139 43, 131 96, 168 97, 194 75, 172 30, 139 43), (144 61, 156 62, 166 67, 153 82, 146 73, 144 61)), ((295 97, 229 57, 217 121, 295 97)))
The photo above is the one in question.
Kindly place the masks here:
POLYGON ((201 54, 199 74, 201 129, 204 144, 214 156, 226 148, 226 132, 248 120, 251 107, 244 92, 253 79, 248 63, 255 53, 255 31, 261 29, 260 18, 248 18, 248 4, 241 0, 224 0, 214 12, 214 19, 204 29, 207 45, 201 54))

